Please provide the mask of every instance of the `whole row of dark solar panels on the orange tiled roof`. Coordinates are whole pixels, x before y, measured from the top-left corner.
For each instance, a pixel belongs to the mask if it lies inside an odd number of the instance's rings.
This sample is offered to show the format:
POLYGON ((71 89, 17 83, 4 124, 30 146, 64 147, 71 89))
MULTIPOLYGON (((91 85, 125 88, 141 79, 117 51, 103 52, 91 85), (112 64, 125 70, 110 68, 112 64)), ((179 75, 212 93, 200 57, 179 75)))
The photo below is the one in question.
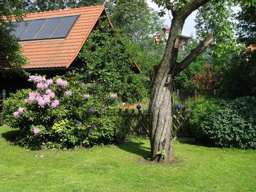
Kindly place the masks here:
POLYGON ((79 15, 26 20, 27 24, 20 22, 12 34, 22 41, 65 38, 77 17, 79 15))

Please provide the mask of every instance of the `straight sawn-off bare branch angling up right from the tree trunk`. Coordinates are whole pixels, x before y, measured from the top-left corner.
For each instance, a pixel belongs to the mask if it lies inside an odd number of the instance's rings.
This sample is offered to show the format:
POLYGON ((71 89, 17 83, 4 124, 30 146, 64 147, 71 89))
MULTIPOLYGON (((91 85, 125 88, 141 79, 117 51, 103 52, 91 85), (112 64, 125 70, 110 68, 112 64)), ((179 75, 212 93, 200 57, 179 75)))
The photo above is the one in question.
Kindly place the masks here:
POLYGON ((214 42, 214 36, 211 34, 210 36, 208 36, 207 38, 205 38, 204 42, 202 42, 201 44, 199 44, 195 49, 193 49, 188 56, 186 56, 186 58, 181 61, 180 63, 178 63, 177 67, 174 68, 174 75, 176 76, 177 74, 179 74, 179 72, 181 72, 182 70, 184 70, 184 68, 188 67, 188 65, 190 63, 193 62, 193 60, 195 60, 195 58, 201 54, 201 52, 203 52, 209 45, 212 44, 212 42, 214 42))

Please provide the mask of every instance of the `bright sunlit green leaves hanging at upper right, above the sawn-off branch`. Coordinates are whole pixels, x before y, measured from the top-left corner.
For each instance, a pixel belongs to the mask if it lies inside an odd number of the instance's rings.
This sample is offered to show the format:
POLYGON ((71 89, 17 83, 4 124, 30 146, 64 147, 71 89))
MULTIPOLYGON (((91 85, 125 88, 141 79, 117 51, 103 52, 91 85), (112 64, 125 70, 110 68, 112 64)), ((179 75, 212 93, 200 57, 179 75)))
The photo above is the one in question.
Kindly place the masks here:
POLYGON ((216 44, 211 46, 209 55, 214 65, 221 69, 227 67, 230 58, 239 54, 244 45, 237 44, 235 35, 235 14, 230 2, 214 1, 204 4, 196 14, 196 35, 201 40, 209 33, 216 37, 216 44))

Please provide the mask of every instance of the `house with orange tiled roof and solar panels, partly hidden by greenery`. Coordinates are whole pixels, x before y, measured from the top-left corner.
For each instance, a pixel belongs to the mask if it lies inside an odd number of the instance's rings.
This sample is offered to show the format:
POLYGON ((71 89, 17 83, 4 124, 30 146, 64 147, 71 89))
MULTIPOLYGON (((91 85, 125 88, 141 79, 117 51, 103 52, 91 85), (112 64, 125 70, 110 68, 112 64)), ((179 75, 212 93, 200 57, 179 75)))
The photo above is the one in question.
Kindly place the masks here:
MULTIPOLYGON (((113 28, 103 5, 27 14, 25 22, 19 22, 13 31, 13 35, 20 38, 22 52, 29 60, 25 70, 47 76, 79 70, 74 60, 90 33, 99 28, 103 15, 108 19, 109 27, 113 28)), ((141 72, 135 62, 132 70, 141 72)), ((0 81, 0 91, 4 88, 7 92, 15 92, 28 87, 24 77, 0 81)))

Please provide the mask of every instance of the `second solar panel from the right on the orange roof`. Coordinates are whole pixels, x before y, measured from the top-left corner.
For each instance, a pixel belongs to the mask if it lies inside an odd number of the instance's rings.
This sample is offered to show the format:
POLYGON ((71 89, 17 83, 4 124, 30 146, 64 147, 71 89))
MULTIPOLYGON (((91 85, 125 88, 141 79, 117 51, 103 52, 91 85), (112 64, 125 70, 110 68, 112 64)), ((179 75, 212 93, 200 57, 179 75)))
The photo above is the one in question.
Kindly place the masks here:
POLYGON ((40 31, 35 36, 35 39, 49 38, 49 36, 52 34, 52 31, 54 31, 60 20, 61 17, 47 19, 42 29, 40 29, 40 31))

